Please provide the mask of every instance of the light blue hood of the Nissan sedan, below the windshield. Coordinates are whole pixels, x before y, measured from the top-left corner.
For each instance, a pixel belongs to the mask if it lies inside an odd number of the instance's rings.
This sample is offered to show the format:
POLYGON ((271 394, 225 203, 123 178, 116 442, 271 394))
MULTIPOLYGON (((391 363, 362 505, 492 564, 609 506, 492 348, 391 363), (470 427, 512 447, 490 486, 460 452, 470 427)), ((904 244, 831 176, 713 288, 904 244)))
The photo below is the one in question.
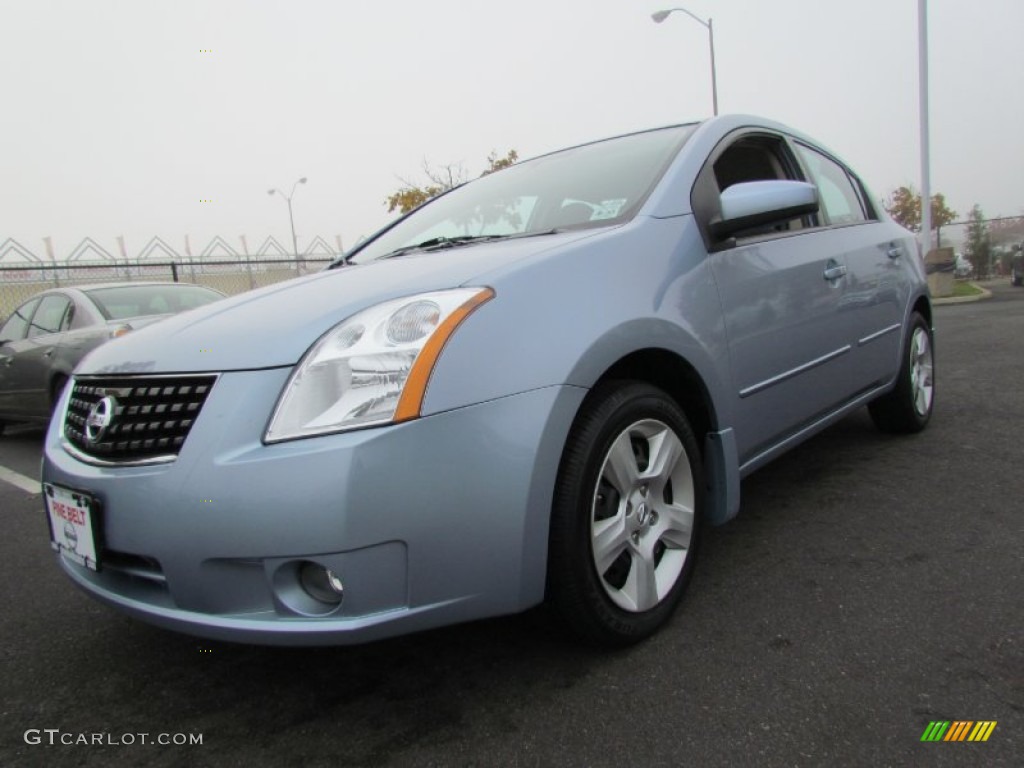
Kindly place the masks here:
MULTIPOLYGON (((330 269, 216 301, 91 352, 76 374, 193 373, 293 366, 328 330, 369 306, 472 284, 594 234, 578 230, 414 252, 330 269)), ((482 284, 481 284, 482 285, 482 284)))

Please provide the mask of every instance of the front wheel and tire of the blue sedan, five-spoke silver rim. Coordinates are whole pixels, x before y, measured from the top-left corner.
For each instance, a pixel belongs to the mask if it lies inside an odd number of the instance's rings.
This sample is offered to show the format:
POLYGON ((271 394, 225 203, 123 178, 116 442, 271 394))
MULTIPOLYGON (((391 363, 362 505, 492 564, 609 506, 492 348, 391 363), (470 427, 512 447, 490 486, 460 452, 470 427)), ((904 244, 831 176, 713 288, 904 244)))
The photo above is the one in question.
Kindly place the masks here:
POLYGON ((548 597, 583 638, 638 642, 683 596, 703 511, 703 470, 685 414, 640 382, 594 389, 555 486, 548 597))

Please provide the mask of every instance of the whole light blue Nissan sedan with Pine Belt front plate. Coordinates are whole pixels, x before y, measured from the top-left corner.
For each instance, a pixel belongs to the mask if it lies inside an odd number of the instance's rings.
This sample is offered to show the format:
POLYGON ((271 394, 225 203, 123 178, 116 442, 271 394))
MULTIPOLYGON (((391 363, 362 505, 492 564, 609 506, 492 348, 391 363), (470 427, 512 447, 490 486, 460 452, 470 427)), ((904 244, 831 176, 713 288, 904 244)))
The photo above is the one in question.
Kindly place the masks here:
POLYGON ((56 561, 139 618, 355 643, 549 601, 636 642, 740 480, 856 409, 932 413, 911 236, 742 116, 427 203, 329 270, 106 344, 46 437, 56 561))

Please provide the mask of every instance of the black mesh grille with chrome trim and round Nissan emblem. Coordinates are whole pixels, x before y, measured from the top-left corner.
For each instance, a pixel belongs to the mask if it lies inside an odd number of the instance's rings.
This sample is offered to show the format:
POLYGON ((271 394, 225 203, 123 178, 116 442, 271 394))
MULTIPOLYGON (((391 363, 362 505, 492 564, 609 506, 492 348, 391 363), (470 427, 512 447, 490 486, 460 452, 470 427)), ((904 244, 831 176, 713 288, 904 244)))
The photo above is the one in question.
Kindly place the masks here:
POLYGON ((216 378, 76 378, 65 417, 65 438, 80 453, 103 462, 173 459, 216 378))

